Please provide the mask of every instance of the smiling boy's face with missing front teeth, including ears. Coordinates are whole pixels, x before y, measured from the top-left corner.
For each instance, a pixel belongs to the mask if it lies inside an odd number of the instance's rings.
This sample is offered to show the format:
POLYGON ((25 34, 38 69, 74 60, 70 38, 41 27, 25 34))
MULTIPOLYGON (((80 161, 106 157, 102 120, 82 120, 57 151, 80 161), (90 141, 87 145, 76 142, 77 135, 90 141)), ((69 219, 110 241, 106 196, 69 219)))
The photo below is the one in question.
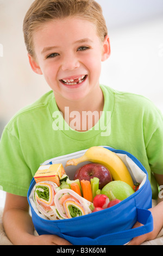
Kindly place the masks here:
POLYGON ((101 62, 110 48, 109 39, 102 43, 93 23, 74 17, 49 21, 33 40, 37 61, 29 56, 30 65, 45 76, 60 100, 80 100, 99 86, 101 62))

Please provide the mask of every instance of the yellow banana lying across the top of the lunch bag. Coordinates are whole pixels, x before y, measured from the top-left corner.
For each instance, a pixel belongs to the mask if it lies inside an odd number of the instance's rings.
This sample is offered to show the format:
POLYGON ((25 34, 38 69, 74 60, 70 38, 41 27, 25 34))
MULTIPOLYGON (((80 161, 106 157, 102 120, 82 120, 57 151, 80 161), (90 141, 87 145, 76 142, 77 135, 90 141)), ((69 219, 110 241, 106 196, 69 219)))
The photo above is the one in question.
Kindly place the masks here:
POLYGON ((134 186, 131 175, 123 161, 114 152, 103 147, 91 147, 78 159, 71 159, 66 162, 66 166, 77 166, 78 163, 90 161, 101 163, 109 169, 113 180, 121 180, 134 186))

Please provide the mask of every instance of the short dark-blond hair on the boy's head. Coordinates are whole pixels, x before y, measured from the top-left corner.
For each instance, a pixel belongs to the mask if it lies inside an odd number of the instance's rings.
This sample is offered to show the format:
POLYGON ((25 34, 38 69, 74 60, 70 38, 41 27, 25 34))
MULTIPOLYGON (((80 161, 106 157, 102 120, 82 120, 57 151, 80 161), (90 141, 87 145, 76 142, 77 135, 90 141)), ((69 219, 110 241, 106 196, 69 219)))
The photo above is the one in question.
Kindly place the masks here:
POLYGON ((35 0, 23 22, 24 41, 28 53, 34 56, 33 33, 43 23, 65 17, 79 17, 92 22, 97 35, 104 41, 108 34, 101 5, 94 0, 35 0))

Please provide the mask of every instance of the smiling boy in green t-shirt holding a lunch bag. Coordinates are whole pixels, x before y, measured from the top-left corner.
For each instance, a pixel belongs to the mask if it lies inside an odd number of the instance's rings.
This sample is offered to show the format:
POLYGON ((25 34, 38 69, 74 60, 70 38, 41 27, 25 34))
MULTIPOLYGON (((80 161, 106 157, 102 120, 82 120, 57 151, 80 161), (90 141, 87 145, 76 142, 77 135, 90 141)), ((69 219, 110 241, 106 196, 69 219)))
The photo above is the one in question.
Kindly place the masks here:
MULTIPOLYGON (((110 42, 95 1, 36 0, 24 18, 23 32, 29 63, 52 91, 18 112, 4 129, 0 144, 0 185, 7 191, 4 228, 14 245, 70 245, 55 235, 33 236, 27 191, 40 163, 93 145, 109 145, 140 160, 149 173, 153 196, 158 195, 156 181, 163 184, 163 119, 142 96, 99 85, 110 42), (85 112, 96 113, 91 125, 83 118, 85 112)), ((156 237, 163 227, 162 210, 161 202, 151 209, 153 232, 130 244, 156 237)))

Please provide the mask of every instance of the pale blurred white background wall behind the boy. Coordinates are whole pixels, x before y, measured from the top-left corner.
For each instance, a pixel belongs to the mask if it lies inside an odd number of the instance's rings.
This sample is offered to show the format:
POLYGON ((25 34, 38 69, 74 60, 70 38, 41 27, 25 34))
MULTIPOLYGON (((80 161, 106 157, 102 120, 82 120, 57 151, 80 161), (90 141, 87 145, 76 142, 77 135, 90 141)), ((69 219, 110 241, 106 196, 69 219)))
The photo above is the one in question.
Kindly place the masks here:
MULTIPOLYGON (((163 1, 97 0, 108 25, 111 56, 101 83, 151 99, 163 113, 163 1)), ((0 0, 0 137, 20 108, 49 90, 30 69, 22 22, 33 0, 0 0), (0 47, 1 49, 1 47, 0 47)), ((5 193, 0 191, 0 206, 5 193)))

